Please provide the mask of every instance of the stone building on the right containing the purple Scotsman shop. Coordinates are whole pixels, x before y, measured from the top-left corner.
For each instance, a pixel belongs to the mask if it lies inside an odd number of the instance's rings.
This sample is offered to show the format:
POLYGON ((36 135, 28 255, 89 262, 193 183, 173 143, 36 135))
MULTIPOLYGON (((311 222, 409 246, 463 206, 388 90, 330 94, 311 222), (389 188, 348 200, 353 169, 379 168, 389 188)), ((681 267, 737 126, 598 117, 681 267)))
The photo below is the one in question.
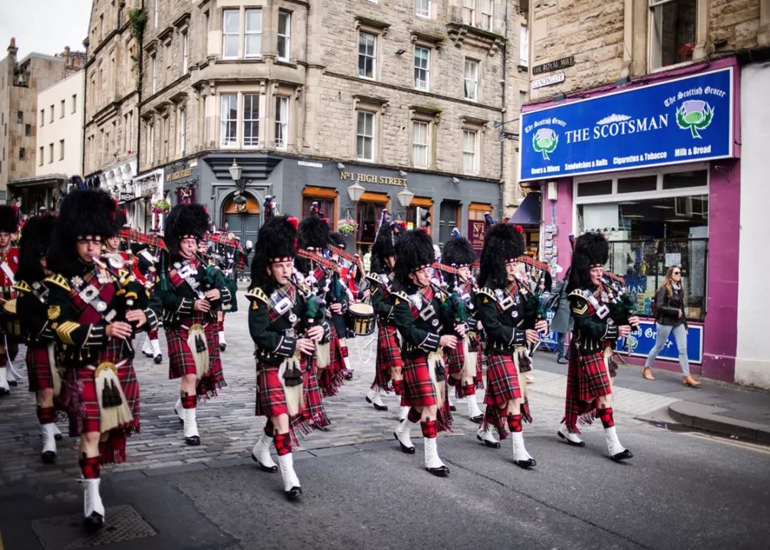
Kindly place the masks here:
MULTIPOLYGON (((544 198, 544 257, 564 269, 568 236, 608 235, 608 268, 644 316, 637 361, 654 344, 654 293, 678 268, 693 370, 770 387, 755 299, 770 269, 770 2, 532 0, 526 15, 519 177, 544 198)), ((676 350, 656 366, 678 369, 676 350)))

